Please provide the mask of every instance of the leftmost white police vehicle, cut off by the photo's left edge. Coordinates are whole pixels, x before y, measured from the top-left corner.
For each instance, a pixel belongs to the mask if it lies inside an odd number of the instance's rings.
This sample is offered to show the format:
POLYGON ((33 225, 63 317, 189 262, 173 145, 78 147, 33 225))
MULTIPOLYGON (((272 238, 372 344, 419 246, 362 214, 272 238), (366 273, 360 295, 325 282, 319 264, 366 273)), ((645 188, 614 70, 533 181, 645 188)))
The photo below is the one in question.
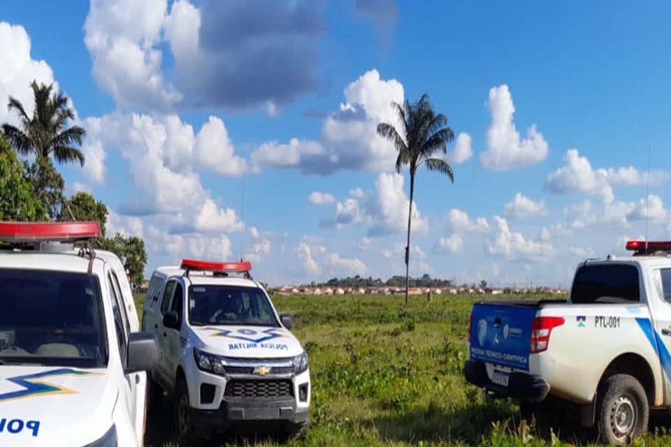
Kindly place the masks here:
POLYGON ((117 256, 96 222, 0 223, 0 446, 142 446, 144 369, 117 256))

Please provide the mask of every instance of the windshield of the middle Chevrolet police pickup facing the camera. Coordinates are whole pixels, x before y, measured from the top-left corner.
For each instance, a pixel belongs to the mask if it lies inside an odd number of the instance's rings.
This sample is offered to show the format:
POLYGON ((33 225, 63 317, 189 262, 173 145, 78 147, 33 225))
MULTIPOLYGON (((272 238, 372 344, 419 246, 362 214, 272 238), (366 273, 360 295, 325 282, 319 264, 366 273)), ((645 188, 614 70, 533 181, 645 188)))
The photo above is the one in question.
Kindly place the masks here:
POLYGON ((279 325, 268 297, 260 288, 210 285, 189 288, 189 323, 279 325))

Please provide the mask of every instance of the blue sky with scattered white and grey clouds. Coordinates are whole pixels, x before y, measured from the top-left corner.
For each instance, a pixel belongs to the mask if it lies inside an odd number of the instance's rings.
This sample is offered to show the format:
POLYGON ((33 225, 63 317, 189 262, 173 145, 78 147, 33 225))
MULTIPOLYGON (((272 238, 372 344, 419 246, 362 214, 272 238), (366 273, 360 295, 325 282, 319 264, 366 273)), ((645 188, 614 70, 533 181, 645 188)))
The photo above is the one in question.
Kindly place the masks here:
POLYGON ((68 191, 145 239, 147 273, 243 246, 284 284, 403 272, 408 182, 375 124, 427 92, 459 139, 454 185, 419 173, 411 271, 566 285, 646 218, 649 238, 670 236, 670 9, 12 1, 0 101, 27 101, 33 78, 71 97, 88 137, 85 168, 60 168, 68 191))

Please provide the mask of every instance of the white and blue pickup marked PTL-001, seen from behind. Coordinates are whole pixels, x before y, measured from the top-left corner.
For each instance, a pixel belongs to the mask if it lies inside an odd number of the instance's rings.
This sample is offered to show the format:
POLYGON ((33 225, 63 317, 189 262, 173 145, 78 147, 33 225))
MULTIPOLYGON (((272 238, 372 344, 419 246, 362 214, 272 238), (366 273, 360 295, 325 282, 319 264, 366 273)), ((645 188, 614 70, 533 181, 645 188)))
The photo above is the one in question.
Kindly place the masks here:
POLYGON ((647 430, 671 408, 671 242, 585 261, 568 301, 477 302, 464 374, 521 406, 569 403, 603 441, 647 430))

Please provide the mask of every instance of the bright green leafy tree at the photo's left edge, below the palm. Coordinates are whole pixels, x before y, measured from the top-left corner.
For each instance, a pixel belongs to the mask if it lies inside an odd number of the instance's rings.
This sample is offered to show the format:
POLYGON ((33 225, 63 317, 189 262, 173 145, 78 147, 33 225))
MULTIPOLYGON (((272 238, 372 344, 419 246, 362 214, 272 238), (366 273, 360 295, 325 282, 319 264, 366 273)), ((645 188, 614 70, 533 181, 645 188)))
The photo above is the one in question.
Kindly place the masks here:
POLYGON ((42 221, 41 200, 24 178, 24 166, 0 135, 0 220, 42 221))

